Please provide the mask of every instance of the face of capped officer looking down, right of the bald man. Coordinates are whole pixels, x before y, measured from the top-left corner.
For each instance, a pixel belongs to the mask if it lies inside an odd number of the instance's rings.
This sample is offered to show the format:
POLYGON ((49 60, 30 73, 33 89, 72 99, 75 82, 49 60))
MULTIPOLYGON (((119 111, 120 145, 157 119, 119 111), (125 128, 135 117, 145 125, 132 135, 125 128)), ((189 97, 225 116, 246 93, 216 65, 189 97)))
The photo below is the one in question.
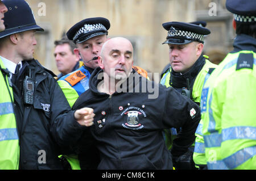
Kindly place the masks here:
POLYGON ((179 73, 186 73, 201 54, 199 44, 197 42, 184 45, 168 44, 172 69, 179 73))

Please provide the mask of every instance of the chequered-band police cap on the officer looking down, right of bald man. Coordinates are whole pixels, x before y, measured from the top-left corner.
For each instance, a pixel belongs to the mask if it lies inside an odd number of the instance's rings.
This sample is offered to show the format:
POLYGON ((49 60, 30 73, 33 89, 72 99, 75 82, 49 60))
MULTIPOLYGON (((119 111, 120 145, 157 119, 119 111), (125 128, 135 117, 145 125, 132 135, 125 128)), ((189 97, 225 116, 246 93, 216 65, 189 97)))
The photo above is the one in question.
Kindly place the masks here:
POLYGON ((204 36, 210 34, 207 28, 191 23, 167 22, 163 23, 163 27, 168 35, 162 44, 188 44, 192 41, 204 43, 204 36))

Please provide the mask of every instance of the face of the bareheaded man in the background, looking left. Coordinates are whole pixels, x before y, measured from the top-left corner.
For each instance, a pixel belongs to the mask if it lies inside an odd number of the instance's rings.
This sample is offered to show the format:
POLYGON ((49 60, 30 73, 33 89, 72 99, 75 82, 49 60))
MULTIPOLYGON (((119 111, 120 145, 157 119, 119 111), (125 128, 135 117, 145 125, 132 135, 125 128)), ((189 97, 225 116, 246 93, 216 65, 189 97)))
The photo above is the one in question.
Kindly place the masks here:
POLYGON ((57 69, 65 74, 71 73, 79 57, 73 54, 71 47, 68 43, 56 45, 54 50, 54 57, 57 65, 57 69))

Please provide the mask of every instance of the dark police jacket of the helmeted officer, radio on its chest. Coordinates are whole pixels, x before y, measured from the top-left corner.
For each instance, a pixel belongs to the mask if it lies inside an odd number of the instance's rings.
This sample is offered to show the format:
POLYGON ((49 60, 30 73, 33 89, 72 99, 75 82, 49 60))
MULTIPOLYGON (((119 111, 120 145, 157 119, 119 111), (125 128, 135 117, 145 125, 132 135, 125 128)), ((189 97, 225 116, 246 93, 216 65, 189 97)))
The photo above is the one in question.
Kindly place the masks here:
MULTIPOLYGON (((37 60, 22 61, 22 69, 13 85, 20 169, 63 169, 58 155, 77 137, 81 127, 71 110, 53 73, 37 60), (34 82, 34 102, 24 104, 23 79, 29 75, 34 82), (60 147, 61 146, 61 147, 60 147)), ((68 148, 68 147, 67 147, 68 148)))

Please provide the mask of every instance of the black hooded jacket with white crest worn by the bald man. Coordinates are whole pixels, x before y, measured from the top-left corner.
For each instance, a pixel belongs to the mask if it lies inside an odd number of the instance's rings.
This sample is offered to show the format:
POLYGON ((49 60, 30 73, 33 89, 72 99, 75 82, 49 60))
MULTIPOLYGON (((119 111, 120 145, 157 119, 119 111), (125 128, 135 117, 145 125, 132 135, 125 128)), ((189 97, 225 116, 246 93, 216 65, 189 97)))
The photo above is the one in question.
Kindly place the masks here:
POLYGON ((100 151, 97 169, 172 169, 171 153, 162 131, 182 127, 172 154, 183 154, 195 138, 200 121, 199 106, 172 87, 152 86, 153 82, 134 70, 122 86, 133 79, 127 86, 130 92, 116 91, 110 96, 97 90, 102 81, 97 77, 102 71, 100 68, 93 71, 90 89, 81 94, 73 106, 73 109, 91 107, 96 114, 89 129, 100 151), (142 89, 151 86, 159 91, 155 99, 148 97, 152 95, 151 89, 142 89))

